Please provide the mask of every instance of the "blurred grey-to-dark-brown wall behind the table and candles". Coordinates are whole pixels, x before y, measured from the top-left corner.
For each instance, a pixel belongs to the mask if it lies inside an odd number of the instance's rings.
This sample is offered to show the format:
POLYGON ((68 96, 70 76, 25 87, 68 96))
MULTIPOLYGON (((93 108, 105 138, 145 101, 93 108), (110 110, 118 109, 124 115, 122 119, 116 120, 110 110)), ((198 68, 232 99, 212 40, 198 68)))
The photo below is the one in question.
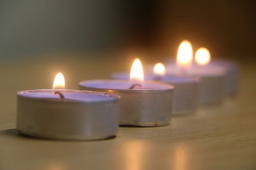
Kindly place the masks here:
POLYGON ((255 53, 255 1, 0 0, 0 56, 125 51, 255 53))

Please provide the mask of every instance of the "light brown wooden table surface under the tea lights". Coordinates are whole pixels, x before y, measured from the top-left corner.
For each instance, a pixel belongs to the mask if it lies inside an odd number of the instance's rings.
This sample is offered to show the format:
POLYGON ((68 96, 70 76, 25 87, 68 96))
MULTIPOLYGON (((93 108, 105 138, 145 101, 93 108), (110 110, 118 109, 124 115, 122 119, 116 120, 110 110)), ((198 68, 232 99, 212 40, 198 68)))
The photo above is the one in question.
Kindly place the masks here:
POLYGON ((120 64, 122 59, 111 62, 116 68, 106 59, 2 63, 0 169, 256 169, 256 71, 252 64, 241 63, 236 97, 201 107, 195 115, 173 117, 166 127, 120 127, 116 138, 102 141, 54 141, 17 133, 18 90, 51 88, 57 71, 63 71, 67 83, 72 82, 69 87, 76 88, 81 79, 106 78, 126 67, 120 64))

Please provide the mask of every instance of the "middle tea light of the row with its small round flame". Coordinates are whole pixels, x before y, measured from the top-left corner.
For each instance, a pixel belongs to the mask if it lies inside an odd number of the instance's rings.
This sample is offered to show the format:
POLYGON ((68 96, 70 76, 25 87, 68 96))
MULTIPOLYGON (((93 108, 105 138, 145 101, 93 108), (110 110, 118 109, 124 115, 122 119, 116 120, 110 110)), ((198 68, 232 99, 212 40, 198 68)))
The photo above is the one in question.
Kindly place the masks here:
MULTIPOLYGON (((165 67, 161 63, 154 66, 154 74, 146 74, 146 80, 157 80, 174 86, 173 115, 195 113, 198 106, 198 78, 165 75, 165 67)), ((127 80, 127 73, 116 73, 113 78, 127 80)))

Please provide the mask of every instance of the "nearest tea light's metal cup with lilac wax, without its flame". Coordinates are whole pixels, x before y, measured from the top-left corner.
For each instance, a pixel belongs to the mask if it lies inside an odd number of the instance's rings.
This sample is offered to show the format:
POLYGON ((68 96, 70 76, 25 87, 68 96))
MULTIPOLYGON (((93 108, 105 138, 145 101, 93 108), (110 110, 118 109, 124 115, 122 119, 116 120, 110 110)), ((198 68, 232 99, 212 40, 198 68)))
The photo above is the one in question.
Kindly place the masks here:
POLYGON ((119 101, 118 95, 83 90, 21 91, 17 130, 49 139, 110 138, 118 131, 119 101))

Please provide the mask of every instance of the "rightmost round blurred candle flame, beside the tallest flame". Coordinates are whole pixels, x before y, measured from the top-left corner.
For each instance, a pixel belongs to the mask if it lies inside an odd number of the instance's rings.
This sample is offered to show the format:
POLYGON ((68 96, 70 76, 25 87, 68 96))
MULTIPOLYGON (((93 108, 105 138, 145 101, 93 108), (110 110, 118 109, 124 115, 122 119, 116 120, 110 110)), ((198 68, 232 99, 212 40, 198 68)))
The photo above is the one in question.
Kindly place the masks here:
POLYGON ((211 54, 207 48, 199 48, 195 53, 196 64, 206 65, 211 60, 211 54))

